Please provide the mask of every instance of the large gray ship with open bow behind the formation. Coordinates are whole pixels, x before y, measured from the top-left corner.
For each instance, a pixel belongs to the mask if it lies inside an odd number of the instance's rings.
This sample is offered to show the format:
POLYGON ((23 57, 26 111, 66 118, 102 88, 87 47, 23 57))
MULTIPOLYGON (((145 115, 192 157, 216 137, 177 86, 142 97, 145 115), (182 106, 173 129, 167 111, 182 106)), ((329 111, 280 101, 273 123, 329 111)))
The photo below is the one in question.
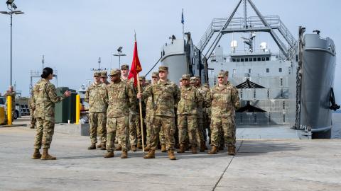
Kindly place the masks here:
POLYGON ((212 20, 197 45, 190 33, 183 39, 170 37, 161 47, 161 64, 169 67, 171 81, 182 74, 200 75, 211 87, 220 70, 229 71, 242 100, 237 127, 278 125, 297 129, 302 137, 329 139, 332 110, 340 108, 332 89, 335 45, 319 30, 298 30, 296 40, 279 16, 263 16, 251 0, 240 0, 228 18, 212 20), (244 17, 235 17, 239 8, 244 8, 244 17), (255 16, 247 15, 248 8, 255 16), (278 52, 267 42, 256 45, 257 33, 269 34, 278 52), (232 40, 229 54, 224 54, 222 36, 236 34, 247 36, 242 37, 244 50, 238 49, 240 40, 232 40))

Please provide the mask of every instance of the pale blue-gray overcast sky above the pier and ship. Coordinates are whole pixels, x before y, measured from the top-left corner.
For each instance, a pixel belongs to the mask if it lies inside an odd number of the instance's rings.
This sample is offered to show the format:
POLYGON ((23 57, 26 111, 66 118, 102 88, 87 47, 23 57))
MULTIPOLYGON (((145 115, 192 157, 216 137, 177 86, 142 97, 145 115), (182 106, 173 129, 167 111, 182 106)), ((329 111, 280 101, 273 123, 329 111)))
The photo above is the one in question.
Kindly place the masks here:
MULTIPOLYGON (((6 0, 0 1, 0 11, 6 11, 6 0)), ((173 0, 173 1, 109 1, 109 0, 16 0, 18 10, 25 14, 13 16, 13 83, 28 96, 31 70, 45 66, 58 70, 58 86, 78 89, 92 79, 90 69, 98 66, 118 68, 118 58, 111 57, 122 46, 131 64, 134 30, 137 33, 139 58, 148 71, 160 57, 161 46, 170 35, 180 36, 181 9, 185 10, 185 30, 193 35, 195 44, 205 33, 212 18, 228 17, 238 0, 173 0)), ((254 0, 259 11, 278 15, 297 39, 298 26, 307 32, 321 30, 341 49, 341 1, 337 0, 254 0)), ((242 12, 238 12, 242 16, 242 12)), ((0 91, 9 86, 9 16, 0 15, 0 91)), ((229 42, 220 43, 229 47, 229 42)), ((225 49, 227 50, 227 49, 225 49)), ((338 63, 338 62, 337 62, 338 63)), ((341 103, 340 64, 335 71, 337 103, 341 103), (338 82, 338 83, 337 83, 338 82)), ((317 76, 318 77, 318 76, 317 76)), ((54 81, 53 81, 54 82, 54 81)))

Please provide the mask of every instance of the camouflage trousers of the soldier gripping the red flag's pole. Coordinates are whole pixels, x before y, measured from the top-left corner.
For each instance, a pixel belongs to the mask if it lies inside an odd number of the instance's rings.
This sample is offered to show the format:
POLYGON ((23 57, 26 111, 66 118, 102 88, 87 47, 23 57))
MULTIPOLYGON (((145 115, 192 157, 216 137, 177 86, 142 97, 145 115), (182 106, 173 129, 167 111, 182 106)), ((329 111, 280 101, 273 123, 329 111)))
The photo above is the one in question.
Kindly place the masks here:
MULTIPOLYGON (((165 137, 165 144, 167 150, 174 150, 175 139, 175 120, 174 117, 166 116, 154 116, 151 123, 151 138, 149 139, 149 145, 152 150, 156 150, 158 146, 158 138, 161 137, 161 131, 163 130, 165 137)), ((161 141, 162 144, 162 141, 161 141)))

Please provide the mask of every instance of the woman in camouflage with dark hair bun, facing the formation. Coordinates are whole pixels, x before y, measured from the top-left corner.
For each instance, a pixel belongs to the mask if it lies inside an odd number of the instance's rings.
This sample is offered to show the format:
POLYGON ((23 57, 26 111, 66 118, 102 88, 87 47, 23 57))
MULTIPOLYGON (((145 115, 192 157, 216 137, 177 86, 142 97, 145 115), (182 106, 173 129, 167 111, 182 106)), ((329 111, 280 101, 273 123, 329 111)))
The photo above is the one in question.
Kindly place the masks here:
POLYGON ((53 69, 46 67, 43 69, 40 81, 33 87, 33 106, 36 108, 34 115, 37 120, 33 159, 56 159, 48 154, 55 129, 55 103, 71 96, 70 91, 65 91, 63 96, 57 96, 55 86, 50 83, 51 79, 53 79, 53 69), (43 146, 43 155, 39 152, 41 146, 43 146))

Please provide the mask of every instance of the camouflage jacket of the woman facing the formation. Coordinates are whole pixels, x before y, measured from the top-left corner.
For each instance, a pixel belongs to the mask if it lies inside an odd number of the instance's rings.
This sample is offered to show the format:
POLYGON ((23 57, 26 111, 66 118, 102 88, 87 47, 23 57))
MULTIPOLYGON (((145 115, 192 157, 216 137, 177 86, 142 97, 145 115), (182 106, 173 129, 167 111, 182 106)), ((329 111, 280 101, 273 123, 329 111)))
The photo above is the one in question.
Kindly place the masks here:
POLYGON ((57 96, 55 85, 46 79, 40 79, 33 87, 33 104, 36 108, 35 117, 54 121, 55 103, 63 100, 65 96, 57 96))

